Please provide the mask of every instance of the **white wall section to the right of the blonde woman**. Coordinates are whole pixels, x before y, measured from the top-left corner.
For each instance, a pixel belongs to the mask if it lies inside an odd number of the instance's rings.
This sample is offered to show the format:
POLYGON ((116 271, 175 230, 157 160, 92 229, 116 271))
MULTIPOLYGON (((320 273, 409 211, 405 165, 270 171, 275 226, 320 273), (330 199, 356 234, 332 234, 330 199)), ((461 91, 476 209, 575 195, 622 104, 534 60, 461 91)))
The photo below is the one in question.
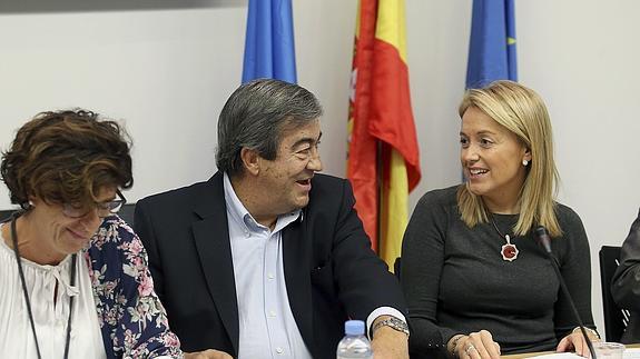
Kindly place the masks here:
POLYGON ((601 332, 598 250, 622 243, 640 207, 638 11, 633 0, 519 1, 516 8, 521 81, 549 106, 560 200, 589 235, 601 332))

